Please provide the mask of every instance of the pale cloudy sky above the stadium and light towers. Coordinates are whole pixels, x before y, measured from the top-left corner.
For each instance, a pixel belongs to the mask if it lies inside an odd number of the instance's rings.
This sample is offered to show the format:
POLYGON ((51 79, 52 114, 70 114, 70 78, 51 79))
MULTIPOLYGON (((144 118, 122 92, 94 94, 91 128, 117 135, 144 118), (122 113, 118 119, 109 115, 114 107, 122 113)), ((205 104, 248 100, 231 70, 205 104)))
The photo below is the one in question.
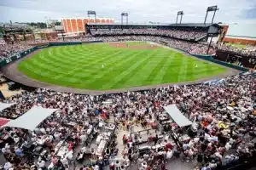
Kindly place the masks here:
POLYGON ((0 22, 86 17, 88 10, 99 17, 120 20, 127 12, 131 22, 161 23, 175 22, 177 11, 183 10, 184 23, 203 22, 207 7, 216 4, 215 22, 256 23, 256 0, 0 0, 0 22))

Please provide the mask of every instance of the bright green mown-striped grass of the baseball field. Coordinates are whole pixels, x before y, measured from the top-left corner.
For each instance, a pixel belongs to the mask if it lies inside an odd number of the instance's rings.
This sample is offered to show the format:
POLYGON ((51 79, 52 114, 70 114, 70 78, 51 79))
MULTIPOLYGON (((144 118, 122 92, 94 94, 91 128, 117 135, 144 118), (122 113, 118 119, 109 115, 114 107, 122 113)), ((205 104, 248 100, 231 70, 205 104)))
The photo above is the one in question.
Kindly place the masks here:
POLYGON ((44 48, 21 61, 18 69, 41 82, 97 90, 188 82, 226 71, 175 49, 115 48, 108 43, 44 48))

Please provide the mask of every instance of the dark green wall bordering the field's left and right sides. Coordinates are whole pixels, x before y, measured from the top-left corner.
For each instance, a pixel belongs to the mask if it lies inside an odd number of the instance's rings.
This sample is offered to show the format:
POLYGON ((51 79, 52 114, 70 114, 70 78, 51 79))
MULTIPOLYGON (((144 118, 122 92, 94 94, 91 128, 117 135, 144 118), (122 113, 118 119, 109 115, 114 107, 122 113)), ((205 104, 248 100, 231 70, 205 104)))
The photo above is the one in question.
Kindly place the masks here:
MULTIPOLYGON (((3 59, 0 62, 0 67, 4 66, 4 65, 8 65, 10 62, 15 61, 16 59, 23 58, 27 54, 31 54, 32 52, 34 52, 34 51, 36 51, 38 49, 41 49, 41 48, 49 48, 51 46, 79 45, 79 44, 83 44, 83 43, 93 43, 93 42, 103 42, 103 41, 91 41, 91 42, 45 42, 45 43, 39 43, 39 44, 37 44, 37 46, 35 46, 33 48, 30 48, 30 49, 28 49, 28 50, 26 50, 26 51, 24 51, 24 52, 22 52, 20 54, 15 54, 14 56, 10 57, 9 59, 3 59)), ((182 49, 178 49, 178 50, 183 51, 182 49)), ((183 52, 185 52, 185 51, 183 51, 183 52)), ((185 53, 188 53, 188 52, 185 52, 185 53)), ((193 56, 195 56, 196 58, 199 58, 199 59, 205 59, 205 60, 211 61, 211 62, 216 63, 218 65, 224 65, 224 66, 230 67, 232 69, 236 69, 238 71, 248 71, 247 68, 244 68, 244 67, 241 67, 241 66, 238 66, 238 65, 231 65, 231 64, 226 63, 224 61, 213 59, 211 55, 200 55, 200 54, 191 54, 191 55, 193 55, 193 56)))

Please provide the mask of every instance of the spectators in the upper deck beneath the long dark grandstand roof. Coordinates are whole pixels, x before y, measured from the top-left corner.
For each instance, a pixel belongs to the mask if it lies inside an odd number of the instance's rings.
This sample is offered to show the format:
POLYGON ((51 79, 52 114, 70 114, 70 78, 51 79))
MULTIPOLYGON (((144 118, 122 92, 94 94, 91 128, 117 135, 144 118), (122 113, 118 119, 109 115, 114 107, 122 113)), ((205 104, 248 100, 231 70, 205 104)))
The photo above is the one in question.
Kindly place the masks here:
POLYGON ((123 34, 132 34, 132 35, 142 35, 148 34, 151 36, 167 36, 175 37, 185 40, 196 40, 201 37, 207 36, 207 31, 195 31, 195 30, 183 30, 183 29, 97 29, 90 30, 92 35, 123 35, 123 34))

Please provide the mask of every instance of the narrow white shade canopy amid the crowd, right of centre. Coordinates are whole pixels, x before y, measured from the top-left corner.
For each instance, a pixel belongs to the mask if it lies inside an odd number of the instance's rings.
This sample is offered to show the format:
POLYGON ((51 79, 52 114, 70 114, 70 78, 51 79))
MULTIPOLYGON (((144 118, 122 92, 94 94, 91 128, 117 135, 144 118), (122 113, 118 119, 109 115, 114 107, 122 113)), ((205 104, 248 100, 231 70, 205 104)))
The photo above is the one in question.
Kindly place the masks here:
POLYGON ((187 117, 183 116, 182 112, 177 109, 176 105, 167 105, 164 108, 179 127, 186 127, 192 124, 192 122, 190 122, 187 117))

